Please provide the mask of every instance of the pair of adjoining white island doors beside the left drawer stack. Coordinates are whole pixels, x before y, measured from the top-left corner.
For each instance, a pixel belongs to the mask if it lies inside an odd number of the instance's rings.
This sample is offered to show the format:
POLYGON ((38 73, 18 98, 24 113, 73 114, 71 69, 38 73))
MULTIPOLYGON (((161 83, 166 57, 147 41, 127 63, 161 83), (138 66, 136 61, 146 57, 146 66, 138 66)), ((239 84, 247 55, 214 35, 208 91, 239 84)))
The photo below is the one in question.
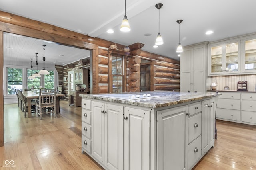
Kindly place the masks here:
POLYGON ((92 156, 110 170, 123 169, 123 106, 92 101, 92 156))

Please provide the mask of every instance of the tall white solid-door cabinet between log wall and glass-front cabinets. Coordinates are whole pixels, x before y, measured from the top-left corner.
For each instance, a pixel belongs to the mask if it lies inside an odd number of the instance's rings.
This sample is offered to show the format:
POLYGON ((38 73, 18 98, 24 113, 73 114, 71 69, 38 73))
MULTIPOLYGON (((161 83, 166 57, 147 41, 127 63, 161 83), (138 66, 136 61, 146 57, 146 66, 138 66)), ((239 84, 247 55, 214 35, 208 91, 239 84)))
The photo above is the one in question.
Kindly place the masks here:
POLYGON ((184 47, 180 57, 181 92, 206 92, 207 44, 184 47))

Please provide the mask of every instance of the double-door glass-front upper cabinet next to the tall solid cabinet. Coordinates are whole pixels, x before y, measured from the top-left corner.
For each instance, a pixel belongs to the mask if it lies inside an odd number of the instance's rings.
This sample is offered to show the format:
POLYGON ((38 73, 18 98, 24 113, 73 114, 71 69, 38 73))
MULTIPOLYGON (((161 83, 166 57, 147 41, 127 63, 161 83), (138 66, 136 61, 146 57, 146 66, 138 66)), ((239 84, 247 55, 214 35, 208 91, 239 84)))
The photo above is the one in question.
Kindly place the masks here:
POLYGON ((209 45, 209 75, 241 72, 240 41, 209 45))

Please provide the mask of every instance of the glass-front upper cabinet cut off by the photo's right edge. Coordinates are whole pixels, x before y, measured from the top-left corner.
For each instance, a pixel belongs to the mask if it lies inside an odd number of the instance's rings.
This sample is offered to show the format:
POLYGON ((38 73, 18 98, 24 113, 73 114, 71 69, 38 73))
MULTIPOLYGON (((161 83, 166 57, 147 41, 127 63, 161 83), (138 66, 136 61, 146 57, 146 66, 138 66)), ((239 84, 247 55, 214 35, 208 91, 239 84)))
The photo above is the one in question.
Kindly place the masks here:
POLYGON ((242 72, 256 72, 256 37, 242 40, 242 72))

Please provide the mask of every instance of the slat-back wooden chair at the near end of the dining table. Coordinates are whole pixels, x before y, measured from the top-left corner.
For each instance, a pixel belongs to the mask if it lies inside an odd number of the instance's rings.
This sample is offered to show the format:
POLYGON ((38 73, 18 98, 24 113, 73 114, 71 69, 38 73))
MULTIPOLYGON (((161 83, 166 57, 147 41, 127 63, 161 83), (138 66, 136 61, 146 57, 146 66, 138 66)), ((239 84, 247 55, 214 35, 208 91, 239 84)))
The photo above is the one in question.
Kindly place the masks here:
POLYGON ((40 89, 36 102, 36 116, 42 120, 42 114, 53 113, 56 117, 56 89, 40 89))

